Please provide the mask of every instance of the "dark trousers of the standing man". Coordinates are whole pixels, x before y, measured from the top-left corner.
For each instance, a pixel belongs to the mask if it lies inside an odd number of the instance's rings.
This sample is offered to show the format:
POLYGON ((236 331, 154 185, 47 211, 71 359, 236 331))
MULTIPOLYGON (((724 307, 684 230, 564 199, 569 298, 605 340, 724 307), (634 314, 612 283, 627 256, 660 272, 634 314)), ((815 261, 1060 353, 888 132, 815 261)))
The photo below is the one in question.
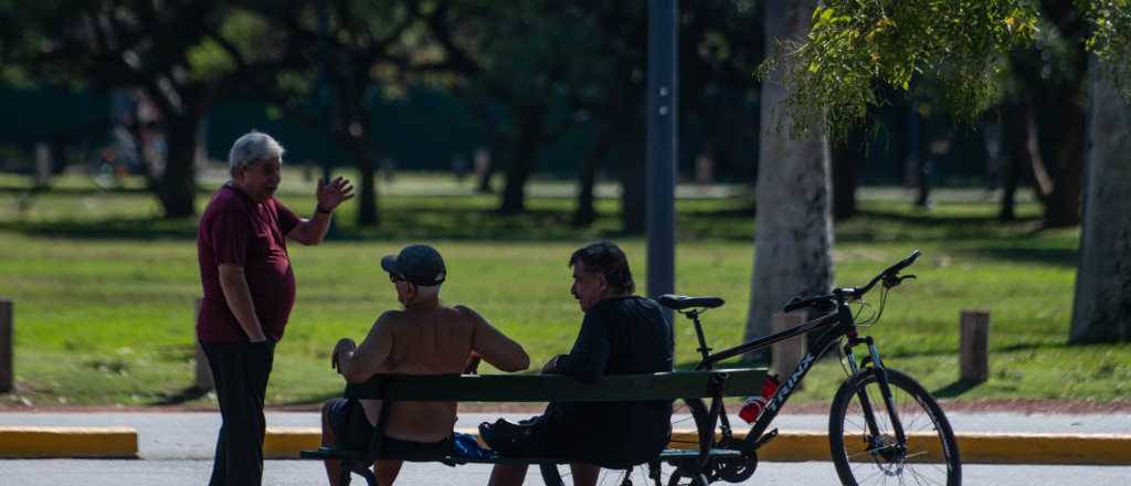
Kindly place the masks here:
POLYGON ((264 396, 275 342, 201 342, 223 423, 209 486, 257 486, 264 478, 264 396))

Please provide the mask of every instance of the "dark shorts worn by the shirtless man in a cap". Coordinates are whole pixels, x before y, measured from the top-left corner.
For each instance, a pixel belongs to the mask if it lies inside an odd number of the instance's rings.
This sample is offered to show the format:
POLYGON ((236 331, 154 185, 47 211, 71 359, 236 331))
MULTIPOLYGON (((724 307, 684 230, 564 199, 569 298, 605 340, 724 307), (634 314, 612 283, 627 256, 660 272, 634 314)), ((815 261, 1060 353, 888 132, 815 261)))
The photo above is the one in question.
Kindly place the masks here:
MULTIPOLYGON (((375 428, 365 418, 365 409, 360 402, 344 398, 331 400, 329 422, 338 448, 351 451, 369 450, 375 428)), ((381 439, 382 459, 434 461, 450 453, 451 437, 440 442, 404 441, 388 435, 381 439)))

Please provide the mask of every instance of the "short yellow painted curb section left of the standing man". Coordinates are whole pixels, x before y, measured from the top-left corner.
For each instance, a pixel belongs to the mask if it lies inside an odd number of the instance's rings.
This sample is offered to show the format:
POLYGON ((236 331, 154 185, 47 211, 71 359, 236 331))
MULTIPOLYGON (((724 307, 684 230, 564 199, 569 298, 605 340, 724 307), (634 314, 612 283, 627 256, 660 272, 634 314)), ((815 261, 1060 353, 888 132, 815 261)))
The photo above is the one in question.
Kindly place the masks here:
POLYGON ((0 458, 136 458, 133 427, 0 426, 0 458))

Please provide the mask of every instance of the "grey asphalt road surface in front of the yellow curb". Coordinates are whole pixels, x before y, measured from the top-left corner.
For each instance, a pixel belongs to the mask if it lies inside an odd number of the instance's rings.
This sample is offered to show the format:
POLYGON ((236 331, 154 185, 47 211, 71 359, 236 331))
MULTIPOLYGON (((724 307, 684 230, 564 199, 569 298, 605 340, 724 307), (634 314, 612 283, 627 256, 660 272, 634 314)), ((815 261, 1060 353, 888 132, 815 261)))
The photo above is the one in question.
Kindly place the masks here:
MULTIPOLYGON (((0 484, 11 486, 200 486, 208 483, 211 462, 206 460, 3 460, 0 484)), ((449 468, 434 463, 408 463, 398 485, 485 485, 490 469, 483 466, 449 468)), ((962 467, 964 484, 994 486, 1131 484, 1131 467, 1086 466, 986 466, 962 467)), ((264 485, 325 485, 321 465, 314 461, 267 461, 264 485)), ((364 485, 360 478, 354 484, 364 485)), ((527 485, 542 485, 532 468, 527 485)), ((636 484, 639 484, 636 483, 636 484)), ((725 484, 725 483, 724 483, 725 484)), ((745 485, 836 485, 830 462, 767 462, 745 485)))

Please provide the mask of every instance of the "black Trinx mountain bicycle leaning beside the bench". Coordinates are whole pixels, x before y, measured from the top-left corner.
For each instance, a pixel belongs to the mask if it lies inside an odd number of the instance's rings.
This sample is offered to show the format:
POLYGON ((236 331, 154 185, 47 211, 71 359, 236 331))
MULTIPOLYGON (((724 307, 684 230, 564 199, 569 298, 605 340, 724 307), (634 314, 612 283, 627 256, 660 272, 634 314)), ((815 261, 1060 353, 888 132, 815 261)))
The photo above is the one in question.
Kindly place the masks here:
MULTIPOLYGON (((688 297, 664 295, 659 303, 673 309, 694 323, 701 362, 697 370, 714 370, 715 365, 735 356, 763 349, 775 342, 813 331, 823 331, 810 352, 802 356, 797 367, 767 399, 765 409, 745 437, 733 434, 723 401, 701 399, 682 400, 694 419, 699 437, 698 448, 741 451, 741 457, 723 459, 688 459, 661 465, 653 461, 641 471, 646 484, 656 486, 706 486, 715 481, 741 483, 758 467, 758 449, 777 436, 777 429, 766 432, 782 407, 796 390, 797 383, 821 356, 835 345, 847 363, 844 383, 837 390, 829 410, 829 448, 832 463, 844 485, 961 484, 961 461, 950 423, 934 398, 907 374, 887 367, 870 336, 860 336, 860 329, 874 324, 883 314, 888 290, 915 276, 900 276, 920 257, 915 251, 903 261, 887 268, 863 287, 835 288, 831 294, 789 301, 784 311, 811 310, 820 316, 762 339, 711 353, 707 347, 700 315, 707 309, 723 305, 718 297, 688 297), (863 297, 877 284, 882 284, 882 295, 877 312, 857 322, 851 304, 863 305, 863 297), (865 346, 866 353, 857 359, 855 349, 865 346), (666 468, 666 469, 665 469, 666 468)), ((689 441, 691 442, 691 441, 689 441)), ((544 468, 549 469, 549 468, 544 468)), ((544 471, 545 472, 545 471, 544 471)), ((552 471, 555 472, 556 470, 552 471)), ((631 484, 631 472, 621 471, 622 483, 631 484)), ((556 477, 554 478, 556 479, 556 477)), ((556 483, 555 483, 556 484, 556 483)))

